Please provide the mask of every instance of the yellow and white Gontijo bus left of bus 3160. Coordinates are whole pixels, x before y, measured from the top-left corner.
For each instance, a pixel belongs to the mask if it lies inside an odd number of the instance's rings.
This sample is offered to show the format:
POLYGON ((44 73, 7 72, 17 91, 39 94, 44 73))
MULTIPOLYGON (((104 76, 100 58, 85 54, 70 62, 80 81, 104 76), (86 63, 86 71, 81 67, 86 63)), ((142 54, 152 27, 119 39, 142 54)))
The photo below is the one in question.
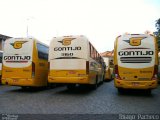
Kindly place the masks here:
POLYGON ((2 84, 26 87, 47 86, 49 47, 34 38, 5 41, 2 84))

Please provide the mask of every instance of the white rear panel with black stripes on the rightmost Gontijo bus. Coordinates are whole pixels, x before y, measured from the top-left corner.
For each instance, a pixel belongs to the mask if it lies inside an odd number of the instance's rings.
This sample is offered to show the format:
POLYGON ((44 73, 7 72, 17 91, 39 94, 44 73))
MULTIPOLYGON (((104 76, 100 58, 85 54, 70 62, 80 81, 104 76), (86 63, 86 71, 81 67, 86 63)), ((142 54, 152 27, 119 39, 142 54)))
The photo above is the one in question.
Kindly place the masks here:
POLYGON ((138 35, 138 37, 142 38, 138 47, 132 46, 129 43, 130 38, 134 37, 136 38, 137 35, 125 35, 118 38, 118 66, 125 68, 153 67, 155 64, 154 37, 150 35, 138 35))

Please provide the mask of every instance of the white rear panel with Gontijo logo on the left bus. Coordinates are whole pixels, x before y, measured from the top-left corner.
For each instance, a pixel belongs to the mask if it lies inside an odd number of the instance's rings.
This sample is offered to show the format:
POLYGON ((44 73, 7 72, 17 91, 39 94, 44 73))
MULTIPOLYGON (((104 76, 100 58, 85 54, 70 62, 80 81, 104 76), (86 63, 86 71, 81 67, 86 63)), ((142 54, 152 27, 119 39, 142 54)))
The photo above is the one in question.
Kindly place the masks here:
POLYGON ((3 64, 10 68, 28 67, 32 64, 32 53, 32 39, 8 39, 4 44, 3 64))

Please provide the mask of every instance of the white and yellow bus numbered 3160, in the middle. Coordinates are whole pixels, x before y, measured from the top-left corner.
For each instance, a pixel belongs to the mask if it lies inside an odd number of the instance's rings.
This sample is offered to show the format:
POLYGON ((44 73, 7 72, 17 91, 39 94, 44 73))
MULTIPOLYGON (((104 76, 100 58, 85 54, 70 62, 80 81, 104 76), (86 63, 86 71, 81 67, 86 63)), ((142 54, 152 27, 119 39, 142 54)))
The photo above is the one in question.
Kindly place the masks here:
POLYGON ((85 36, 52 39, 49 47, 49 83, 97 85, 104 80, 103 58, 85 36))

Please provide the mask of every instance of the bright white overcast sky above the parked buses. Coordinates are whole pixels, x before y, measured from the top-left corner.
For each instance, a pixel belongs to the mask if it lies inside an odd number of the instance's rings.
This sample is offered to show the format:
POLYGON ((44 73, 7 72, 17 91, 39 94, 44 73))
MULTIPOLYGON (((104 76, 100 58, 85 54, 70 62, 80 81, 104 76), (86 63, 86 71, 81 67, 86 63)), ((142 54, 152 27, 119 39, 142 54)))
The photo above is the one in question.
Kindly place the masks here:
POLYGON ((52 37, 85 35, 99 52, 113 50, 117 36, 154 32, 160 0, 0 0, 0 34, 52 37))

